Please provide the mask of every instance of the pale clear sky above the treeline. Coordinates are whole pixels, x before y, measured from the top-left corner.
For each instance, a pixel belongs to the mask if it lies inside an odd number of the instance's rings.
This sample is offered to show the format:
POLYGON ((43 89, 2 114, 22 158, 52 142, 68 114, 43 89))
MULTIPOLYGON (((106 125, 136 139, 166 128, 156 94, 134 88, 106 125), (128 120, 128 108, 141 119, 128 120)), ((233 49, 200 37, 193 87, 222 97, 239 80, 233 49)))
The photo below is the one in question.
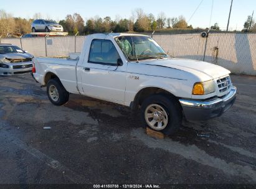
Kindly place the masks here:
MULTIPOLYGON (((11 13, 15 17, 30 18, 36 12, 40 12, 45 18, 50 17, 54 20, 65 19, 67 14, 77 12, 83 19, 87 20, 94 16, 110 16, 115 20, 116 15, 121 18, 129 18, 131 11, 136 8, 143 9, 147 14, 153 13, 158 16, 163 11, 166 17, 178 17, 183 15, 188 21, 196 7, 202 0, 93 0, 93 1, 59 1, 59 0, 12 0, 2 1, 0 9, 11 13)), ((219 23, 220 29, 227 27, 231 0, 213 0, 211 25, 219 23)), ((211 16, 212 0, 204 0, 196 14, 188 23, 193 27, 209 27, 211 16)), ((240 30, 244 22, 252 11, 256 11, 256 0, 234 0, 230 17, 230 29, 240 30)), ((256 12, 254 14, 256 16, 256 12)), ((255 18, 254 16, 254 18, 255 18)))

